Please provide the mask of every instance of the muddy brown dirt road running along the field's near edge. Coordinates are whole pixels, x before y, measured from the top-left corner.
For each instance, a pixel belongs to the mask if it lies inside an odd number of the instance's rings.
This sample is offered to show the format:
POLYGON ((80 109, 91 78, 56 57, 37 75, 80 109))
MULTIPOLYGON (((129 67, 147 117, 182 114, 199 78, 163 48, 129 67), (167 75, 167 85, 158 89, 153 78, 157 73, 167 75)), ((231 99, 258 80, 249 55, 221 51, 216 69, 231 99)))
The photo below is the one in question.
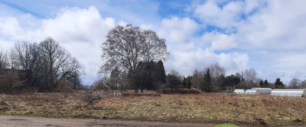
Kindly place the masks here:
MULTIPOLYGON (((26 116, 0 115, 0 127, 33 127, 33 126, 59 126, 59 127, 100 127, 100 126, 125 126, 125 127, 213 127, 221 123, 177 123, 177 122, 150 122, 131 120, 95 120, 78 118, 42 118, 26 116)), ((247 127, 241 126, 240 127, 247 127)))

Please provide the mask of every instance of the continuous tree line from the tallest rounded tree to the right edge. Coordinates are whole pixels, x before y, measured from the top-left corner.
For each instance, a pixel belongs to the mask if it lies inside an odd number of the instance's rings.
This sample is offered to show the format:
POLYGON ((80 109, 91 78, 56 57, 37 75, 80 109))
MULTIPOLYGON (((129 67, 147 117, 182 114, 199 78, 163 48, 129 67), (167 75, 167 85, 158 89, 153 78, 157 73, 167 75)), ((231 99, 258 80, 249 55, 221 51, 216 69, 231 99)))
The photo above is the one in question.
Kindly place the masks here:
MULTIPOLYGON (((102 60, 105 62, 99 73, 103 78, 95 81, 94 86, 106 91, 134 89, 141 93, 143 90, 178 88, 196 88, 205 92, 252 87, 285 88, 279 78, 274 84, 258 78, 254 68, 226 76, 226 69, 218 62, 203 71, 195 69, 187 77, 175 70, 166 74, 162 60, 166 60, 170 54, 165 42, 152 30, 143 30, 131 24, 115 26, 108 32, 106 42, 101 46, 102 60)), ((295 84, 302 83, 294 79, 289 86, 297 88, 295 84)))

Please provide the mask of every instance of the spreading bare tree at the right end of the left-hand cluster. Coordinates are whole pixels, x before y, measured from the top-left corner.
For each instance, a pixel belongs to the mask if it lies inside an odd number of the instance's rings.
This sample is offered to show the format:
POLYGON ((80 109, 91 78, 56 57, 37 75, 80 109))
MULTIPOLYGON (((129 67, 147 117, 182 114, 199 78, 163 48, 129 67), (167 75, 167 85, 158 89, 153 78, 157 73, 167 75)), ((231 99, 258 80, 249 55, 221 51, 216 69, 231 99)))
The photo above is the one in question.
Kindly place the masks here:
POLYGON ((47 90, 53 90, 58 81, 77 79, 82 75, 80 63, 52 37, 47 37, 39 44, 39 51, 47 90))

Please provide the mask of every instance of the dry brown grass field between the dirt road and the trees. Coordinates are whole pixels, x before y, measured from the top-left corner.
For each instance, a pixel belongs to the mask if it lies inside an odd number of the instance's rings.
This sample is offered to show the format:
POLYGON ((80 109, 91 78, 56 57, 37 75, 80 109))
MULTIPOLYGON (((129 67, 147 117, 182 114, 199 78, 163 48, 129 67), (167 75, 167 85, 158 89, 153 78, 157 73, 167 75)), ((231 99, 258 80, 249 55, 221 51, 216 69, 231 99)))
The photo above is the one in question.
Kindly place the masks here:
POLYGON ((0 115, 50 118, 110 118, 165 122, 231 122, 244 125, 300 125, 306 99, 270 95, 162 94, 161 97, 109 97, 95 107, 79 106, 79 93, 0 95, 0 115))

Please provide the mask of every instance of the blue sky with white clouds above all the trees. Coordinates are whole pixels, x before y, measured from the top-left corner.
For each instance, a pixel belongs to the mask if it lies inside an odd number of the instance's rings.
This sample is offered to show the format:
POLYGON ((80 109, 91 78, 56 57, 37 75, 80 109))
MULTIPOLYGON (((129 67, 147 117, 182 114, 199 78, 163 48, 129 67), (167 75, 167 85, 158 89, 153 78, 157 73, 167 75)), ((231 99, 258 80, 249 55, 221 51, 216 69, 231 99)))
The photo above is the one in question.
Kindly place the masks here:
POLYGON ((101 45, 115 25, 133 24, 165 38, 165 70, 192 75, 218 62, 226 75, 256 69, 288 84, 306 79, 305 0, 0 0, 0 48, 53 37, 98 78, 101 45))

